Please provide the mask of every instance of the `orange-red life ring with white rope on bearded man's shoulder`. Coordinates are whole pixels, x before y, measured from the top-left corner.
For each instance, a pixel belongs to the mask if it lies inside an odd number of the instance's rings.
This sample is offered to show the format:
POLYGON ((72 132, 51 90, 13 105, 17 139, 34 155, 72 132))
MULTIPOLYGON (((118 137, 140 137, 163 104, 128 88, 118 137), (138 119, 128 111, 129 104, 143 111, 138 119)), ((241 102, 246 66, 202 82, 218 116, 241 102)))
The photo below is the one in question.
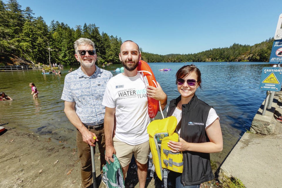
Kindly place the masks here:
MULTIPOLYGON (((148 65, 148 63, 146 63, 145 61, 140 60, 139 64, 138 64, 138 67, 137 67, 137 71, 141 72, 141 74, 142 74, 142 76, 143 76, 143 78, 145 80, 146 86, 150 85, 150 86, 153 86, 155 88, 157 87, 156 78, 154 76, 154 73, 153 73, 152 69, 148 65), (147 72, 142 72, 142 71, 147 71, 147 72)), ((149 113, 149 117, 150 118, 156 117, 158 111, 159 111, 159 101, 156 100, 156 99, 148 97, 148 113, 149 113)))

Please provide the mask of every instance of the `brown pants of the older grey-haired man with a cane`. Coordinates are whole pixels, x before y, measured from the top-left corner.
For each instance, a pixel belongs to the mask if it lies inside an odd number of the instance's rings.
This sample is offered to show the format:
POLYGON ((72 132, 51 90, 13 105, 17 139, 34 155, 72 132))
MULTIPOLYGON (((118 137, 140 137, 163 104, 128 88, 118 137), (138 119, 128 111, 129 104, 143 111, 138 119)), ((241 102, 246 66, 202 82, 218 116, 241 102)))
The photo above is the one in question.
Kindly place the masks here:
MULTIPOLYGON (((103 173, 103 166, 106 164, 105 160, 105 133, 104 128, 100 130, 90 129, 91 132, 95 133, 98 138, 99 151, 100 151, 100 170, 103 173)), ((83 142, 81 133, 76 130, 76 144, 78 149, 78 154, 80 158, 80 174, 81 174, 81 187, 86 188, 90 186, 93 182, 92 179, 92 164, 91 164, 91 151, 90 145, 83 142)), ((94 148, 95 153, 95 148, 94 148)))

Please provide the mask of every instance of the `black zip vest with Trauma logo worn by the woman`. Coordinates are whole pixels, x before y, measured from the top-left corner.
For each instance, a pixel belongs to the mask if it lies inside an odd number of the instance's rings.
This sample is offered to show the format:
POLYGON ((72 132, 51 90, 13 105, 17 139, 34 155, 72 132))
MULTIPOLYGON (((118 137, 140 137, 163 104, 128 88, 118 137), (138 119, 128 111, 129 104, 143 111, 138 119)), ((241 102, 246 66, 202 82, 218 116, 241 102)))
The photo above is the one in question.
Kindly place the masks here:
MULTIPOLYGON (((167 117, 174 112, 181 95, 170 101, 167 117)), ((196 95, 188 104, 182 105, 182 122, 180 137, 186 142, 209 142, 206 133, 206 122, 212 106, 199 100, 196 95)), ((181 183, 185 185, 198 185, 214 179, 210 164, 209 153, 183 151, 183 172, 181 183)))

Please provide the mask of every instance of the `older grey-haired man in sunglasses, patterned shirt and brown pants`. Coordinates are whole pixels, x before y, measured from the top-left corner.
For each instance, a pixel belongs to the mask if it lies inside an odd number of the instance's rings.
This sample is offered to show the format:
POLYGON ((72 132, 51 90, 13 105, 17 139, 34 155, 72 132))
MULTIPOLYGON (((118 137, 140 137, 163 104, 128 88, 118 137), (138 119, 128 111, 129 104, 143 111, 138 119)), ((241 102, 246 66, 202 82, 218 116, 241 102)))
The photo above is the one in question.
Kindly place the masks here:
POLYGON ((95 65, 97 55, 93 41, 79 38, 74 43, 75 58, 80 67, 67 74, 61 99, 65 113, 76 127, 76 143, 81 162, 81 187, 90 187, 92 164, 90 146, 97 141, 100 151, 100 170, 105 162, 104 115, 102 105, 106 85, 113 74, 95 65), (96 137, 96 140, 93 139, 96 137))

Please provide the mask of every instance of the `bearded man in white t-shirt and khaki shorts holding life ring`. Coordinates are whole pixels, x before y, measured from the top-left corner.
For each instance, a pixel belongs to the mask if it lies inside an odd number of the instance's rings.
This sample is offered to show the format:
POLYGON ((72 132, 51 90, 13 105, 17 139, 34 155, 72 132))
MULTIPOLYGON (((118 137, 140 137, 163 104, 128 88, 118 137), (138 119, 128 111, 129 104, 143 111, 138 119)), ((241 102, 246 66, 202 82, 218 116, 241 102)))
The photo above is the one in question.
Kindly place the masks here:
POLYGON ((147 96, 160 100, 163 110, 167 104, 167 95, 159 83, 157 83, 158 88, 152 86, 146 88, 142 75, 137 73, 141 52, 135 42, 122 43, 119 58, 124 66, 124 73, 109 80, 102 102, 102 105, 106 106, 105 159, 113 162, 112 156, 115 154, 120 161, 125 178, 132 154, 134 154, 139 185, 140 188, 144 188, 150 150, 147 133, 147 126, 150 123, 147 96))

